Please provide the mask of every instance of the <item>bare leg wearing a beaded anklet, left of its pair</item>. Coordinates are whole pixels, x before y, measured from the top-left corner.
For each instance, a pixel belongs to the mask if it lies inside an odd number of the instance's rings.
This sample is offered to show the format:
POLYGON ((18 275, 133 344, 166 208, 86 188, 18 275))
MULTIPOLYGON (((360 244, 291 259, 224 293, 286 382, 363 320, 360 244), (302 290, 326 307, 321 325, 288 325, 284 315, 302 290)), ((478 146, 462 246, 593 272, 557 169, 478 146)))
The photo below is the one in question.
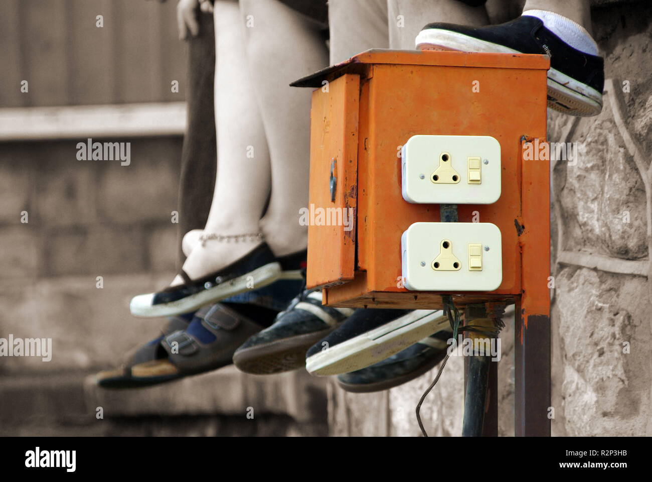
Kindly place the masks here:
MULTIPOLYGON (((258 233, 271 174, 246 63, 244 25, 235 0, 217 0, 214 15, 217 178, 204 231, 222 235, 258 233)), ((188 239, 192 237, 196 236, 188 239)), ((205 246, 194 246, 183 269, 190 278, 200 278, 237 261, 258 244, 209 240, 205 246)), ((183 280, 177 276, 172 284, 181 283, 183 280)))

